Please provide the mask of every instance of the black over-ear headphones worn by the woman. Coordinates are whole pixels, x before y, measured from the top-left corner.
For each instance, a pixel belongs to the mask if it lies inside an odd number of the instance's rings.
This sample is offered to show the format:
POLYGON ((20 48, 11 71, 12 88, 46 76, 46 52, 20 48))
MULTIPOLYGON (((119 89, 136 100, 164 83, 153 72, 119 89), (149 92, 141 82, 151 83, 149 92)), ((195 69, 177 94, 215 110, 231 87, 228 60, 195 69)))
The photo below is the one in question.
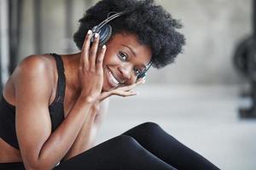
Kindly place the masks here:
MULTIPOLYGON (((112 35, 112 27, 108 24, 111 20, 121 16, 125 14, 124 12, 110 12, 108 14, 108 18, 106 20, 103 20, 99 25, 94 26, 92 28, 92 38, 90 39, 90 42, 94 41, 94 35, 96 33, 99 34, 100 40, 99 40, 99 45, 103 46, 106 42, 108 42, 108 39, 111 37, 112 35), (111 16, 109 16, 110 14, 112 14, 111 16)), ((137 79, 139 78, 143 78, 146 76, 146 72, 148 71, 148 69, 150 68, 150 66, 152 65, 152 62, 150 61, 147 68, 142 71, 138 76, 137 79)))

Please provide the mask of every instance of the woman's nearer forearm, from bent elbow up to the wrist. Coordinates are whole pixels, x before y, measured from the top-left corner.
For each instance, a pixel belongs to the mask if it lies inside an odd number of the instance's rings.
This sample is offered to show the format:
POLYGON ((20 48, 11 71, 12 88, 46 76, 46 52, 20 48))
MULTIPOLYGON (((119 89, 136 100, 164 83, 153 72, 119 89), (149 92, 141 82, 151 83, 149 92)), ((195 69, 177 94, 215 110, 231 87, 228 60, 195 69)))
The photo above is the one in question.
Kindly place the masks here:
POLYGON ((91 103, 84 98, 79 98, 73 105, 72 110, 67 117, 61 122, 61 125, 49 136, 44 142, 37 162, 35 163, 38 169, 47 169, 55 167, 61 159, 67 154, 67 151, 72 146, 77 138, 84 122, 90 119, 91 103))

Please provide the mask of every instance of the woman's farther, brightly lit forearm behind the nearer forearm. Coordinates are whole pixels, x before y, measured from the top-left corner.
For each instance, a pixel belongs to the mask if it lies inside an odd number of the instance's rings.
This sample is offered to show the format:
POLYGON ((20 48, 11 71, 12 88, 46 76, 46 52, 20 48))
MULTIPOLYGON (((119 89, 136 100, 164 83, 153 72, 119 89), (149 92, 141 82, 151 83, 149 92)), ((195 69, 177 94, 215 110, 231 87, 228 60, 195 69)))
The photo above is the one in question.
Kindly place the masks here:
POLYGON ((108 112, 109 99, 105 99, 101 104, 95 104, 90 109, 90 119, 84 122, 79 135, 75 142, 73 143, 70 150, 68 150, 67 155, 62 161, 77 156, 85 150, 89 150, 94 146, 96 140, 96 133, 99 127, 102 125, 102 120, 108 112))

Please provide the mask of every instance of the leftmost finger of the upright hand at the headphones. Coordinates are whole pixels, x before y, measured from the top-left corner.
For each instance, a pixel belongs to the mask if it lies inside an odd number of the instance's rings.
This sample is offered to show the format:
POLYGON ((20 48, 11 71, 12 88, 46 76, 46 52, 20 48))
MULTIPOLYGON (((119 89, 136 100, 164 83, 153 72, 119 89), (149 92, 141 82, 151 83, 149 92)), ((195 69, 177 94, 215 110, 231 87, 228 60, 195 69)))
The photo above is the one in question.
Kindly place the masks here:
POLYGON ((80 57, 80 65, 83 68, 84 68, 84 65, 88 64, 91 33, 92 32, 89 30, 84 38, 84 44, 82 47, 82 53, 81 53, 81 57, 80 57))

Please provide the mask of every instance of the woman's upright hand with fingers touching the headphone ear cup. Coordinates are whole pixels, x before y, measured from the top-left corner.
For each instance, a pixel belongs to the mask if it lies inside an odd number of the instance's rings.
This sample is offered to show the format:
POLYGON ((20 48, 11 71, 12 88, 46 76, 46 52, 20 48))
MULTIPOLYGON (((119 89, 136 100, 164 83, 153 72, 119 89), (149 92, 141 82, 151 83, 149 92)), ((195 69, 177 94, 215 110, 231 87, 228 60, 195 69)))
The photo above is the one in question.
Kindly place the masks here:
POLYGON ((91 35, 92 32, 88 31, 84 39, 79 64, 79 83, 81 87, 80 96, 89 99, 90 102, 94 103, 102 92, 102 62, 106 52, 106 46, 104 45, 98 51, 99 35, 96 34, 94 42, 90 47, 91 35))

